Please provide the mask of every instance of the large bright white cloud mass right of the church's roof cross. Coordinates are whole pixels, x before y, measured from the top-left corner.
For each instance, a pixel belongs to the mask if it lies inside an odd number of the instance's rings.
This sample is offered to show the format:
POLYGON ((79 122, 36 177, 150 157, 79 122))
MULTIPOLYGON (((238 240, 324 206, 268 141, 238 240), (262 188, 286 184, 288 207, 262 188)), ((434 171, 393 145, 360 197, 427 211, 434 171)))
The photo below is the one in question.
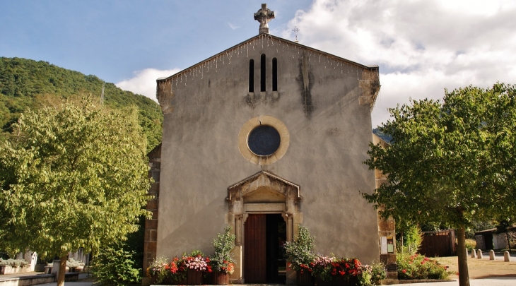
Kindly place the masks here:
POLYGON ((379 65, 376 126, 409 98, 514 81, 515 13, 512 0, 315 0, 282 36, 297 25, 301 44, 379 65))

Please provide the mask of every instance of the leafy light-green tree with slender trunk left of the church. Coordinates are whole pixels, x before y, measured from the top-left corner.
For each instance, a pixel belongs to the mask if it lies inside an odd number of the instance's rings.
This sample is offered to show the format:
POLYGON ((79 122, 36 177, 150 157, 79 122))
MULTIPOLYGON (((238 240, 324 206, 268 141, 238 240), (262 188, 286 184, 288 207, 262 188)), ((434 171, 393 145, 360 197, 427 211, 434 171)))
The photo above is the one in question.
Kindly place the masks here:
POLYGON ((124 239, 148 215, 146 140, 136 109, 89 102, 28 111, 0 145, 0 246, 59 256, 124 239))

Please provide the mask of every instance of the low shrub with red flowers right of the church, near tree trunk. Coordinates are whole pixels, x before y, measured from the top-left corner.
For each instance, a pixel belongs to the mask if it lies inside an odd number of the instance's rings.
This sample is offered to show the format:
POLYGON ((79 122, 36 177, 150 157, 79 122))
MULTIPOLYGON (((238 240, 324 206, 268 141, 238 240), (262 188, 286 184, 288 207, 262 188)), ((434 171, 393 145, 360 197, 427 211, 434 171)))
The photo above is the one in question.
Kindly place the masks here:
POLYGON ((398 264, 398 278, 411 279, 447 279, 445 266, 433 259, 420 254, 399 254, 396 258, 398 264))

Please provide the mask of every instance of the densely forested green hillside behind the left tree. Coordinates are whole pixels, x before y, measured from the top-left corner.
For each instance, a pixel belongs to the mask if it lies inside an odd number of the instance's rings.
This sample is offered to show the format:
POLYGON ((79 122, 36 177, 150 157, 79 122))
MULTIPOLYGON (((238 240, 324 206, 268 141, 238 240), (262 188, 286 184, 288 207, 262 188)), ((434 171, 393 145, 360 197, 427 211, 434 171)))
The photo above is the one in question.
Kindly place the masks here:
MULTIPOLYGON (((0 58, 0 141, 11 132, 11 124, 18 120, 26 108, 38 109, 58 105, 63 100, 81 100, 91 96, 100 102, 100 78, 86 76, 54 66, 46 61, 20 58, 0 58)), ((105 83, 104 105, 139 108, 139 121, 146 133, 148 150, 161 142, 163 114, 159 105, 143 95, 121 90, 113 83, 105 83)))

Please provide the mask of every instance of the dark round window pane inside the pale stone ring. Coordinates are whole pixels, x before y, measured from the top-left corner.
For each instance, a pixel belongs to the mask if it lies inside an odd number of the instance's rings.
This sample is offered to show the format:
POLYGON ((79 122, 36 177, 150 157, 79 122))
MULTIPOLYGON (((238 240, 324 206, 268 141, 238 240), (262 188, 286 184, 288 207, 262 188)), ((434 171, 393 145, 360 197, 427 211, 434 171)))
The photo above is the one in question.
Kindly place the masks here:
POLYGON ((259 156, 269 156, 278 150, 281 143, 281 136, 274 127, 260 125, 252 129, 247 137, 247 146, 252 153, 259 156))

